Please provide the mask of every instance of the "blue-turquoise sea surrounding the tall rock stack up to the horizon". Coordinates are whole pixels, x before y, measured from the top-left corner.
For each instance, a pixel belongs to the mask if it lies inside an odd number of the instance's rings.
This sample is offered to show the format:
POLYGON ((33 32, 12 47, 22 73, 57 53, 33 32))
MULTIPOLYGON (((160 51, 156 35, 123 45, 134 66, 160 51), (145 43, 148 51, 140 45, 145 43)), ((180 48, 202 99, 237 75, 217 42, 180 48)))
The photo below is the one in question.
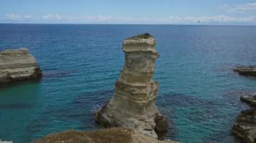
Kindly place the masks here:
POLYGON ((41 81, 0 87, 0 139, 97 129, 93 114, 113 95, 122 41, 143 32, 156 38, 160 53, 154 80, 170 123, 165 138, 240 142, 230 130, 256 78, 232 68, 256 64, 256 26, 0 24, 0 50, 27 47, 44 73, 41 81))

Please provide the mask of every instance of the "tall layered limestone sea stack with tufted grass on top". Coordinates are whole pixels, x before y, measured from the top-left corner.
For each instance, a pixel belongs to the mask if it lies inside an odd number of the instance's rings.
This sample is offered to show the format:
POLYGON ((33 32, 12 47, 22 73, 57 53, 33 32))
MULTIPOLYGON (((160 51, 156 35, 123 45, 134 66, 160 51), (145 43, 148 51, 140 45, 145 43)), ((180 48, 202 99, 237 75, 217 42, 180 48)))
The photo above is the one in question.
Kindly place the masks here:
POLYGON ((156 107, 158 83, 152 81, 159 57, 150 34, 140 34, 123 42, 125 64, 110 101, 96 113, 96 122, 106 127, 135 128, 157 138, 155 130, 168 128, 165 117, 156 107))

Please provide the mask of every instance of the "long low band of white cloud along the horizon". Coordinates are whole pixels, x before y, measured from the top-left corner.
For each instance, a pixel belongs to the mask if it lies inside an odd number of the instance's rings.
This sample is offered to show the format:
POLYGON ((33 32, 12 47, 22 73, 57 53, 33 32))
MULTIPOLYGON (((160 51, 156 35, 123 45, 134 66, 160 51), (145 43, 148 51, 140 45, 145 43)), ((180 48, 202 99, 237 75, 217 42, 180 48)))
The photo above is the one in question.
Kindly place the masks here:
MULTIPOLYGON (((226 6, 225 6, 226 7, 226 6)), ((170 16, 170 17, 116 17, 112 15, 95 15, 95 16, 70 16, 48 14, 42 16, 32 15, 15 15, 7 13, 3 20, 11 21, 32 21, 36 23, 152 23, 152 24, 193 24, 200 23, 256 23, 256 15, 247 17, 231 17, 228 15, 213 15, 213 16, 170 16)))

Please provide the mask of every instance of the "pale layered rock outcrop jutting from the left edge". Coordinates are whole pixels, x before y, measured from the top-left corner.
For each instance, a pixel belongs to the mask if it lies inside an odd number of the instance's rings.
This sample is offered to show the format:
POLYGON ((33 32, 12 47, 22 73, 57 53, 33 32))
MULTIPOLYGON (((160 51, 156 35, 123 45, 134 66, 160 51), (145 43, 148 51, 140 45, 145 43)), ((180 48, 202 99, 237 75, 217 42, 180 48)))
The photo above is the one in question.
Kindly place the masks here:
POLYGON ((4 50, 0 52, 0 83, 37 79, 42 71, 28 49, 4 50))

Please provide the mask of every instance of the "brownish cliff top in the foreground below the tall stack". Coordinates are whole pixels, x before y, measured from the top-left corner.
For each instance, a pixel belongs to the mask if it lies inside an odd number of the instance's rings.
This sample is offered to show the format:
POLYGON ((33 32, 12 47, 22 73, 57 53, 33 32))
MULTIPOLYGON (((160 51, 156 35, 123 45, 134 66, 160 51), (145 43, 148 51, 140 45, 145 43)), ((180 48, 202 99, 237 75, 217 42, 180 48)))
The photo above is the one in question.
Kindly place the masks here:
POLYGON ((110 128, 96 130, 92 132, 67 131, 57 134, 51 134, 34 143, 73 143, 73 142, 90 142, 90 143, 178 143, 170 140, 160 141, 148 138, 136 130, 128 128, 110 128))

